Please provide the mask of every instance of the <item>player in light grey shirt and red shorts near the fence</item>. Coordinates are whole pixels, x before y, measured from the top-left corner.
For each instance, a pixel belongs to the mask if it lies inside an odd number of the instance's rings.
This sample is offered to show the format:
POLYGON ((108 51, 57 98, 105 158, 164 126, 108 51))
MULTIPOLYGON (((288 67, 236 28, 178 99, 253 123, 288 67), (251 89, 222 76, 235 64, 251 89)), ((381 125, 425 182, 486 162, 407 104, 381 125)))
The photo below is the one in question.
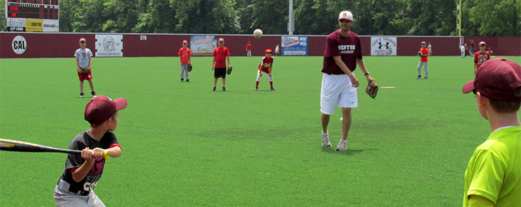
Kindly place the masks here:
POLYGON ((80 49, 76 49, 74 56, 76 56, 76 70, 78 70, 78 77, 80 78, 80 98, 85 97, 85 93, 83 93, 83 82, 87 80, 90 85, 90 94, 92 97, 96 97, 96 92, 94 92, 94 84, 92 83, 92 52, 87 46, 87 40, 85 38, 80 38, 80 49))

